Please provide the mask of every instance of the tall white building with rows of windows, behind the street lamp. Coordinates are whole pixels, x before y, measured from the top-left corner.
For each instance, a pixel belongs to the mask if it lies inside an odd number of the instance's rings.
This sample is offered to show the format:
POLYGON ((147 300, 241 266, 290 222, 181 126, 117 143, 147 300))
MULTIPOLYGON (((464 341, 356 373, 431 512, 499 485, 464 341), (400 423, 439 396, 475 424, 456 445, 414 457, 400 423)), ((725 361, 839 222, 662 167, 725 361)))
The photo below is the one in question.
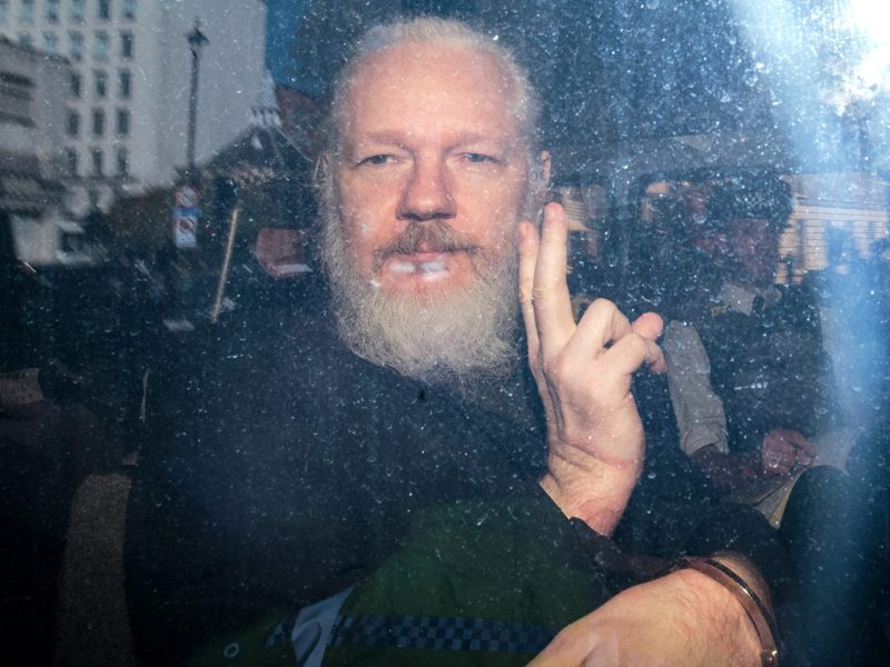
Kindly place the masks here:
POLYGON ((246 126, 263 84, 263 0, 0 0, 0 34, 70 60, 65 83, 66 207, 107 209, 169 186, 186 165, 191 53, 200 21, 196 158, 246 126))

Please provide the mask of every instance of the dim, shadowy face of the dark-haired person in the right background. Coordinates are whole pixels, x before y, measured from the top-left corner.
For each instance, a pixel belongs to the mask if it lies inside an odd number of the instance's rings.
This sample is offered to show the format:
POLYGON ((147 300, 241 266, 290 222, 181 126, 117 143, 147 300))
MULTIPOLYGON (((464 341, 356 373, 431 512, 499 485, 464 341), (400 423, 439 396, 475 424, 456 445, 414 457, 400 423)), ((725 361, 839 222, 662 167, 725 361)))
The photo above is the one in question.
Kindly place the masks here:
POLYGON ((779 235, 764 218, 730 220, 726 253, 734 279, 752 287, 769 287, 779 263, 779 235))

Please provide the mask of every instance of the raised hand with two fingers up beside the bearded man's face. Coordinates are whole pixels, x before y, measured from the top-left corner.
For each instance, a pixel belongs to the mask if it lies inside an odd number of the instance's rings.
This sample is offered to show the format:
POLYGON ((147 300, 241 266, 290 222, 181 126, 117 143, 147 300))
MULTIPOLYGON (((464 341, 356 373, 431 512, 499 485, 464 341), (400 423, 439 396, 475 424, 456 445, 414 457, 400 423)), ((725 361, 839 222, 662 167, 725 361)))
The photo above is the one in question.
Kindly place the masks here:
POLYGON ((655 344, 662 320, 633 325, 611 301, 594 301, 575 325, 565 280, 567 220, 544 209, 541 239, 520 230, 520 300, 528 360, 547 417, 548 472, 541 484, 567 516, 611 535, 644 457, 643 426, 631 378, 644 362, 664 370, 655 344))

